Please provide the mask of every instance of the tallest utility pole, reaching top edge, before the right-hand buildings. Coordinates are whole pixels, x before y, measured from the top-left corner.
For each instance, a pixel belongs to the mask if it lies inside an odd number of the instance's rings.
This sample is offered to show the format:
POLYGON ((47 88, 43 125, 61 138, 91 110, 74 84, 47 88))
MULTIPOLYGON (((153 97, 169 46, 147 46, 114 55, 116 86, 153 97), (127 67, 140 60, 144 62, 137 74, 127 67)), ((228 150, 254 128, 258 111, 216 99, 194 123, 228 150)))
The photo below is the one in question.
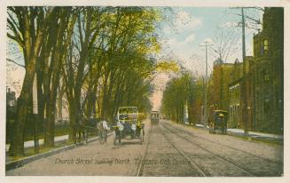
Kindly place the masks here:
POLYGON ((245 43, 245 14, 244 8, 241 7, 242 17, 242 57, 243 57, 243 77, 241 83, 241 105, 242 105, 242 121, 244 123, 244 131, 247 134, 247 65, 246 65, 246 43, 245 43))

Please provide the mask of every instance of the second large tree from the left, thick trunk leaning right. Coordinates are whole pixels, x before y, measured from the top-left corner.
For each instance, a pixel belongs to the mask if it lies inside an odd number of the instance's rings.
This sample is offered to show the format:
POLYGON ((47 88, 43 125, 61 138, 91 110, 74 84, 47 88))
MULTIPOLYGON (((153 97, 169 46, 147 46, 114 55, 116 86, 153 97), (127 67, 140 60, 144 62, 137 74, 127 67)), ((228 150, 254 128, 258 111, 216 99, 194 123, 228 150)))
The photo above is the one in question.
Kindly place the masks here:
POLYGON ((51 21, 51 32, 45 42, 48 45, 46 45, 47 47, 43 46, 43 65, 40 67, 40 73, 44 74, 43 104, 46 110, 44 144, 46 147, 54 146, 54 123, 60 68, 63 61, 66 60, 67 48, 71 44, 74 23, 77 18, 77 11, 72 7, 58 7, 57 10, 58 15, 54 21, 51 21), (55 28, 52 25, 58 26, 55 28))

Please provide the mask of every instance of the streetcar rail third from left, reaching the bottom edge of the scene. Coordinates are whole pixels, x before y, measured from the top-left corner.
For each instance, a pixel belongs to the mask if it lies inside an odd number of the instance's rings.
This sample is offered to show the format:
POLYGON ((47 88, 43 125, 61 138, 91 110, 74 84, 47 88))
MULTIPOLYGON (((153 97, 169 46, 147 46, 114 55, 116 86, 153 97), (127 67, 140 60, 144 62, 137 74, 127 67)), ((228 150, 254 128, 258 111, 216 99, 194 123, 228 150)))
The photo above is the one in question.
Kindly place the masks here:
MULTIPOLYGON (((162 125, 163 125, 163 124, 162 124, 162 125)), ((167 129, 168 131, 170 131, 171 133, 175 134, 176 136, 178 136, 178 137, 180 137, 180 138, 182 138, 182 139, 185 139, 184 136, 175 133, 174 131, 170 130, 169 127, 166 127, 165 125, 163 125, 163 127, 166 128, 166 129, 167 129)), ((235 168, 237 168, 239 171, 242 171, 242 172, 246 173, 248 176, 251 176, 251 177, 255 177, 255 176, 256 176, 255 174, 253 174, 253 173, 251 173, 251 172, 249 172, 249 171, 247 171, 247 170, 245 170, 245 169, 239 167, 236 163, 232 163, 232 162, 230 162, 229 160, 227 160, 227 159, 224 158, 223 156, 221 156, 221 155, 216 155, 214 152, 209 151, 209 150, 206 149, 205 147, 201 147, 199 144, 197 144, 197 143, 195 143, 195 142, 192 142, 192 140, 190 140, 190 139, 185 139, 185 140, 188 141, 188 142, 190 142, 190 143, 192 143, 193 145, 195 145, 195 146, 197 146, 197 147, 200 147, 202 150, 208 152, 209 154, 216 156, 217 158, 221 159, 223 162, 226 162, 226 163, 231 164, 232 166, 234 166, 235 168)))

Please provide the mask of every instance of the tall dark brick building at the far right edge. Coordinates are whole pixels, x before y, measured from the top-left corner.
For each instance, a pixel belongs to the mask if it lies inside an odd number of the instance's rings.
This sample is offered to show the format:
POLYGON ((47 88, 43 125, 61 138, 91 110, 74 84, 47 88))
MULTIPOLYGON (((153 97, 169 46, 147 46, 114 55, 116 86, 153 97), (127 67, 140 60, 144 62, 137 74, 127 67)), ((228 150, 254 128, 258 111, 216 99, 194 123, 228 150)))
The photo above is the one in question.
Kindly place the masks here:
POLYGON ((255 131, 283 132, 284 9, 265 8, 263 31, 254 36, 255 131))

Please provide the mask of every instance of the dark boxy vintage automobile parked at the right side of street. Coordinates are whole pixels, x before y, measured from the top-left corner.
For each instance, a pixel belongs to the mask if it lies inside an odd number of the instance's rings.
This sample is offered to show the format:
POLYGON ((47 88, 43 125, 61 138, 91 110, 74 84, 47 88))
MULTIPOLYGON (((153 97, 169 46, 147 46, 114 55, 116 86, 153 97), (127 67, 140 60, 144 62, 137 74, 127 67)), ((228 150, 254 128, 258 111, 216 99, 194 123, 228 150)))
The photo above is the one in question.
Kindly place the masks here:
POLYGON ((223 134, 227 131, 228 112, 224 110, 214 110, 211 122, 209 123, 209 133, 221 131, 223 134))

